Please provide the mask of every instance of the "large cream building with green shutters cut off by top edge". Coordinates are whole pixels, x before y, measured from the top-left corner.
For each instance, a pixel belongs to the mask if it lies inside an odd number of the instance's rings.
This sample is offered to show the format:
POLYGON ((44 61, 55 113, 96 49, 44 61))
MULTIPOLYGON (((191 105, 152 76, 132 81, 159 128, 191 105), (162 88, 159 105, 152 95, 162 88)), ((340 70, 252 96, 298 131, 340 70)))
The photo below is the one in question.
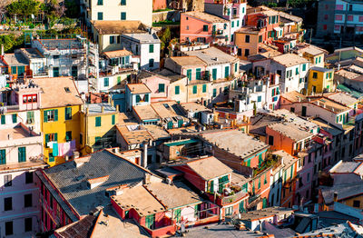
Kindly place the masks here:
POLYGON ((81 14, 88 23, 91 21, 141 21, 152 25, 151 0, 81 0, 81 14))

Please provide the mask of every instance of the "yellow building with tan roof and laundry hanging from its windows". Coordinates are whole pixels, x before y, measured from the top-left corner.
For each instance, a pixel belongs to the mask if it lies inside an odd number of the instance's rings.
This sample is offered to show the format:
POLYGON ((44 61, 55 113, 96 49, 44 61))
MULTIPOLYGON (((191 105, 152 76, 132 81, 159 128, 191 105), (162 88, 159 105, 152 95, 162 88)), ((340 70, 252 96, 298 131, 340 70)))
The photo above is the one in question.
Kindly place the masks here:
POLYGON ((34 83, 42 89, 40 116, 46 163, 62 164, 79 150, 83 100, 70 77, 37 78, 34 83))

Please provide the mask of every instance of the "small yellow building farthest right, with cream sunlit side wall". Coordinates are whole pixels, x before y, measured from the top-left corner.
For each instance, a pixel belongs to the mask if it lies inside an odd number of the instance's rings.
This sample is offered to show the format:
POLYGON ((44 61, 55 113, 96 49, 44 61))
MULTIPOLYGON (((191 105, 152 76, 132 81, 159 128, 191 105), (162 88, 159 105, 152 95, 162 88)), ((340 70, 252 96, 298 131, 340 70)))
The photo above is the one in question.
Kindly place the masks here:
POLYGON ((322 67, 311 67, 308 78, 308 94, 321 94, 323 92, 333 92, 334 70, 322 67))

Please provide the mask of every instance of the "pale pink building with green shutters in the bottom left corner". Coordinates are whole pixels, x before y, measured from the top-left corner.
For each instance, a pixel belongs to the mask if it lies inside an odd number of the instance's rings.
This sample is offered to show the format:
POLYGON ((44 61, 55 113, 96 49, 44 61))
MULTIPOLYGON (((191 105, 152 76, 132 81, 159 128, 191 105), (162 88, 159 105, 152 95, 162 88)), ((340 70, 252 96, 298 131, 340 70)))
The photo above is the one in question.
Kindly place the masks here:
POLYGON ((42 134, 21 123, 0 130, 1 237, 39 232, 41 205, 33 173, 45 166, 42 134))

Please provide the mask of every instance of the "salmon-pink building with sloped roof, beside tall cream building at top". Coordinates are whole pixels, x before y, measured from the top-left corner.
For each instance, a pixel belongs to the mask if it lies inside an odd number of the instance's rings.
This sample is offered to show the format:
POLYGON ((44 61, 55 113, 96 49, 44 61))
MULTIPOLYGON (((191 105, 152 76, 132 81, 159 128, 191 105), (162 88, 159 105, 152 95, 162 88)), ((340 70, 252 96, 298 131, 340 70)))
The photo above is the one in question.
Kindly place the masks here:
POLYGON ((230 43, 230 22, 201 12, 181 14, 181 43, 230 43))

